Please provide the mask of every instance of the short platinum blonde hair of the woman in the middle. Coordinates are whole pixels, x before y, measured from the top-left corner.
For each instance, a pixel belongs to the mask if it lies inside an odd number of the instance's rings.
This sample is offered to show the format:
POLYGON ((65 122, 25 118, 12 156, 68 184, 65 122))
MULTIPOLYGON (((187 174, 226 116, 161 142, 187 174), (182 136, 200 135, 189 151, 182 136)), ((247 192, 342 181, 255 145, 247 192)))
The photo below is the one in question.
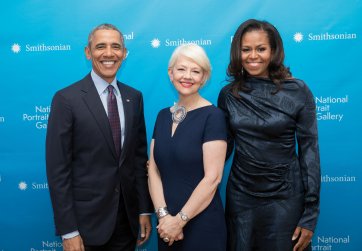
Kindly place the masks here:
POLYGON ((206 55, 205 50, 197 44, 182 44, 179 45, 172 53, 170 61, 168 62, 168 69, 175 66, 177 59, 180 56, 187 57, 198 64, 204 71, 204 84, 211 76, 211 64, 206 55))

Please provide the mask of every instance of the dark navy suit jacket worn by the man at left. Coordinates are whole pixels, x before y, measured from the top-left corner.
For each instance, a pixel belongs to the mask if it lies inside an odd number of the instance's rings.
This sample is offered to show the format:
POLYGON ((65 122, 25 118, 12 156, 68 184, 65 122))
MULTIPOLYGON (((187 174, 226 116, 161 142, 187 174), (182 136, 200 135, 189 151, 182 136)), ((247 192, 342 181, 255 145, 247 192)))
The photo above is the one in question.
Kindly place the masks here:
POLYGON ((117 84, 125 114, 120 158, 90 74, 58 91, 49 115, 46 168, 56 233, 78 230, 86 245, 101 245, 110 238, 120 192, 135 236, 139 214, 152 212, 142 94, 117 84))

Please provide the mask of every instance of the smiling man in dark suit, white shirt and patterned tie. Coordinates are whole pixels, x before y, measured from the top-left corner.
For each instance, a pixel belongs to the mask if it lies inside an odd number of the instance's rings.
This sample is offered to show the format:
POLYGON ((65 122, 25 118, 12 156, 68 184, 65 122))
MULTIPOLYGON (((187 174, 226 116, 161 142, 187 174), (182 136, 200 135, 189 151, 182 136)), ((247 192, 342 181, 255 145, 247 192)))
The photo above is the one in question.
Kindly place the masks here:
POLYGON ((46 167, 64 250, 134 250, 151 232, 142 94, 116 80, 126 52, 115 26, 96 27, 91 73, 52 101, 46 167))

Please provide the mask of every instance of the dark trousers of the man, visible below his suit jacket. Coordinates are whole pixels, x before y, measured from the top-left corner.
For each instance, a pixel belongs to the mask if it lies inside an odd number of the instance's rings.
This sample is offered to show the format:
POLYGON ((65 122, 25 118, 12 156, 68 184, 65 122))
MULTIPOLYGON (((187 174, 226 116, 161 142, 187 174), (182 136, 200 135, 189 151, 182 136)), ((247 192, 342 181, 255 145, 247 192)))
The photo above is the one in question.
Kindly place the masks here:
POLYGON ((111 238, 102 246, 85 246, 86 251, 134 251, 136 238, 132 233, 123 198, 120 198, 117 222, 111 238))

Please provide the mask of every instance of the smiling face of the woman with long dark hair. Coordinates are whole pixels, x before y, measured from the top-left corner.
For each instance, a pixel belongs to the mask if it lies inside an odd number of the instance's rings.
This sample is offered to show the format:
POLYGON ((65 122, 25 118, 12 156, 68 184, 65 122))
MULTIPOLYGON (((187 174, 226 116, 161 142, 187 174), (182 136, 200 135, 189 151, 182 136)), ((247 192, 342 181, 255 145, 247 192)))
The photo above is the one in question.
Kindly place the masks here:
POLYGON ((269 38, 265 31, 246 32, 241 39, 241 62, 243 68, 254 77, 269 77, 272 57, 269 38))

